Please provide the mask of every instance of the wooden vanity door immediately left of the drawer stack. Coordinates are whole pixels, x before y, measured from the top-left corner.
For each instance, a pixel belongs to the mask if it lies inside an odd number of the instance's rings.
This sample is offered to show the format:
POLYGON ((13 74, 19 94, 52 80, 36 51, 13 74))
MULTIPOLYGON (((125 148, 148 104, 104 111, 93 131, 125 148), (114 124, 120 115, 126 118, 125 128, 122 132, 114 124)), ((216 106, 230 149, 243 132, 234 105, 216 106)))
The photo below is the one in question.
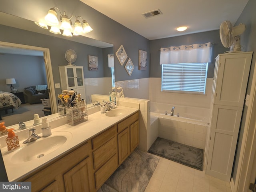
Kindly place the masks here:
POLYGON ((66 192, 90 191, 90 166, 87 157, 63 175, 66 192))

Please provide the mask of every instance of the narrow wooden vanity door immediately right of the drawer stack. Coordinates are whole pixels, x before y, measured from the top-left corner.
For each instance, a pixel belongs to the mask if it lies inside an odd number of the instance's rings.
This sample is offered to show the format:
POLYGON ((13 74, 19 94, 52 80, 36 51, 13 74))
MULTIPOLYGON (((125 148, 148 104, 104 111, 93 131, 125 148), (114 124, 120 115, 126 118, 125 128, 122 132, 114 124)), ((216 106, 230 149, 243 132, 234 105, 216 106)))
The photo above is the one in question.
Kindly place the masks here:
POLYGON ((129 127, 118 134, 118 162, 119 165, 130 155, 130 129, 129 127))

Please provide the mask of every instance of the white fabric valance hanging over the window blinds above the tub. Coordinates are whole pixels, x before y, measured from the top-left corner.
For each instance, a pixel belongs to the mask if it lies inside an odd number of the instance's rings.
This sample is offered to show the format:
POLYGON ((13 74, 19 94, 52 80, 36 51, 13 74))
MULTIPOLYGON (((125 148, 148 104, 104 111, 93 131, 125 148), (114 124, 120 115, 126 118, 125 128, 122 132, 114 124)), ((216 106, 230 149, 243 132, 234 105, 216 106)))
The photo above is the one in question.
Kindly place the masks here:
POLYGON ((160 49, 160 65, 211 62, 211 43, 171 46, 160 49))

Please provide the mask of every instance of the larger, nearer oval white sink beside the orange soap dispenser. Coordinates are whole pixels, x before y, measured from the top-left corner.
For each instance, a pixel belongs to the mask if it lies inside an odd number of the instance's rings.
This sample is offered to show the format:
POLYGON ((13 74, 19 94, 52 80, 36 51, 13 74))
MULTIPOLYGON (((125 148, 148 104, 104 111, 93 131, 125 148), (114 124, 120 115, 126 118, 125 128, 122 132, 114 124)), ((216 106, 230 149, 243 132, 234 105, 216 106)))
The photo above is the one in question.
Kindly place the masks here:
POLYGON ((36 141, 22 145, 20 149, 14 151, 11 161, 22 163, 42 158, 60 148, 69 138, 71 138, 69 132, 54 132, 49 137, 41 137, 36 141))

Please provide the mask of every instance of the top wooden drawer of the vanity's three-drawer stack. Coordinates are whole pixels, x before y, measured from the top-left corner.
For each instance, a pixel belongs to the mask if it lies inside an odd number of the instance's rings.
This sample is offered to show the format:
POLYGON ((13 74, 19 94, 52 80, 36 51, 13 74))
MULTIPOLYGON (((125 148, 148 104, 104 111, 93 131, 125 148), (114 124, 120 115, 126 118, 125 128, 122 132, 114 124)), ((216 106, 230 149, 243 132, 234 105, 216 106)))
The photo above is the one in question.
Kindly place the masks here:
POLYGON ((116 125, 110 129, 106 130, 99 136, 96 136, 95 138, 93 138, 92 139, 92 149, 96 149, 96 148, 102 146, 103 144, 108 142, 108 140, 110 140, 110 138, 115 136, 115 134, 116 134, 116 125))

